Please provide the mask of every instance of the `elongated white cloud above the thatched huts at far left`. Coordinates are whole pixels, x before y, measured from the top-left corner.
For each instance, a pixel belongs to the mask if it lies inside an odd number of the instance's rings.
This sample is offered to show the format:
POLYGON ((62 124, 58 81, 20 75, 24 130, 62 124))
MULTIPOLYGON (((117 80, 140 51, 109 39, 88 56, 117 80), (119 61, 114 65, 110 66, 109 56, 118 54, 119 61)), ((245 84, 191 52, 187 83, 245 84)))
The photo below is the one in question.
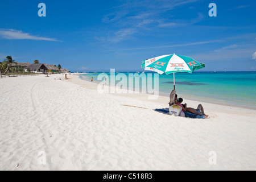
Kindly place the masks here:
POLYGON ((53 38, 44 38, 42 36, 30 35, 28 33, 25 33, 19 30, 13 30, 13 29, 0 29, 0 38, 10 39, 10 40, 27 39, 27 40, 47 40, 47 41, 61 42, 53 38))

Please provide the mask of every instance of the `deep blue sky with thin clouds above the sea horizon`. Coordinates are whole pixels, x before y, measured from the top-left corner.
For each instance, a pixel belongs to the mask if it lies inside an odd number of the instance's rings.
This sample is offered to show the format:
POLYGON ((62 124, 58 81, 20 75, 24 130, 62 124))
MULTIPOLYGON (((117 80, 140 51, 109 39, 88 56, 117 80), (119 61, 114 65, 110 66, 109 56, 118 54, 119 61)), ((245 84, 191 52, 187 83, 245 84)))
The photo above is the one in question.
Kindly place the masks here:
POLYGON ((0 8, 0 61, 142 71, 144 59, 176 53, 205 63, 201 71, 256 71, 254 0, 9 0, 0 8))

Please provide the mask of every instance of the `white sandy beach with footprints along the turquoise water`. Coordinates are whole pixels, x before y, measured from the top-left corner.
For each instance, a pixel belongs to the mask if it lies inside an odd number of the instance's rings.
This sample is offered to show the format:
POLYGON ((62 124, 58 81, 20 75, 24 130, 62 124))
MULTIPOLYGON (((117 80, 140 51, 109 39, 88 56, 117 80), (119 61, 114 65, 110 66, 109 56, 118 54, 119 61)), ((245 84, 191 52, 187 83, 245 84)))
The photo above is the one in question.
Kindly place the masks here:
POLYGON ((185 100, 210 118, 174 117, 155 111, 168 97, 68 77, 0 78, 1 170, 256 169, 255 110, 185 100))

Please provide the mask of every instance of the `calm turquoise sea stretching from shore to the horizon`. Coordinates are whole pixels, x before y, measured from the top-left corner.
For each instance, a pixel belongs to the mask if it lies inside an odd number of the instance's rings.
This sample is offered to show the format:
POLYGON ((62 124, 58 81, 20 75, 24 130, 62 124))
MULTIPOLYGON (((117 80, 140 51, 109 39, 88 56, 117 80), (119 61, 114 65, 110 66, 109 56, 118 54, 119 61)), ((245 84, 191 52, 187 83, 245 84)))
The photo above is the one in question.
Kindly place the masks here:
MULTIPOLYGON (((129 73, 136 72, 115 72, 115 76, 124 73, 127 77, 129 73)), ((148 76, 157 74, 155 72, 138 73, 148 76)), ((94 82, 101 73, 89 73, 81 75, 81 78, 89 80, 93 77, 94 82)), ((105 72, 109 76, 110 73, 105 72)), ((141 79, 142 80, 142 79, 141 79)), ((154 79, 152 79, 154 82, 154 79)), ((128 80, 127 80, 128 81, 128 80)), ((107 80, 109 82, 109 80, 107 80)), ((120 82, 115 81, 115 84, 120 82)), ((127 84, 129 85, 129 84, 127 84)), ((174 76, 159 75, 159 94, 169 96, 174 88, 174 76)), ((243 106, 256 109, 256 72, 193 72, 175 73, 175 86, 178 97, 184 100, 195 100, 212 102, 215 104, 243 106)))

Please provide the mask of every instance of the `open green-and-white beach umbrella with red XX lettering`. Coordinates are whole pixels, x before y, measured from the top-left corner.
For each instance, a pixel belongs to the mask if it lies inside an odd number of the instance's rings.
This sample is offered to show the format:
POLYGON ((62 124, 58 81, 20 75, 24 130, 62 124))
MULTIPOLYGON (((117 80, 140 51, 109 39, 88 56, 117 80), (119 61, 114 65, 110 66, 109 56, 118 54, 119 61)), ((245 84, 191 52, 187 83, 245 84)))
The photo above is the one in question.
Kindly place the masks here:
MULTIPOLYGON (((205 64, 199 63, 196 60, 193 60, 191 57, 176 55, 163 55, 159 57, 154 57, 151 59, 144 60, 141 65, 142 68, 145 68, 145 71, 154 71, 162 75, 174 74, 174 90, 172 90, 172 98, 174 99, 175 95, 175 73, 178 72, 187 72, 192 73, 197 69, 205 67, 205 64)), ((170 95, 171 97, 171 95, 170 95)))

